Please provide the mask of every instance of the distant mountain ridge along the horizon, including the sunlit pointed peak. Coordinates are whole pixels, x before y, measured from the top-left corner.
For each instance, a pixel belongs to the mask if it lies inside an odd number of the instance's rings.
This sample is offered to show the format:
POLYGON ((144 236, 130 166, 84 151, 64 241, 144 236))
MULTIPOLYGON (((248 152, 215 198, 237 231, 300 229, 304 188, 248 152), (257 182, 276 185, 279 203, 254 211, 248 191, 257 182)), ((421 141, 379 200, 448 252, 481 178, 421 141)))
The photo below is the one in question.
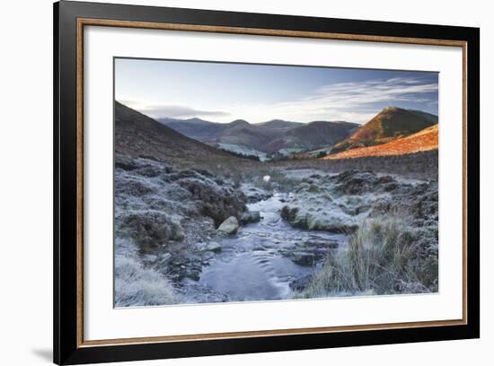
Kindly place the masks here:
POLYGON ((346 121, 300 123, 283 119, 251 124, 237 119, 220 124, 201 118, 162 118, 159 122, 204 144, 235 153, 269 156, 309 153, 331 154, 391 143, 437 124, 435 115, 414 109, 388 107, 366 124, 346 121))

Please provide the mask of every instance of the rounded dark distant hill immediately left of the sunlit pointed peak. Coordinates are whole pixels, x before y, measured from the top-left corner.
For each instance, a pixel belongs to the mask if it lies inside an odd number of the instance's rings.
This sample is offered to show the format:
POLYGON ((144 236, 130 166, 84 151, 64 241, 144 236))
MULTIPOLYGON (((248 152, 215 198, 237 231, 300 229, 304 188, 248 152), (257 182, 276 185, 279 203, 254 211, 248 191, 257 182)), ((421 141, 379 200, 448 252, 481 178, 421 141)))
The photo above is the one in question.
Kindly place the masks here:
POLYGON ((265 146, 265 151, 283 149, 310 151, 339 143, 357 130, 359 125, 343 121, 314 121, 287 130, 265 146))

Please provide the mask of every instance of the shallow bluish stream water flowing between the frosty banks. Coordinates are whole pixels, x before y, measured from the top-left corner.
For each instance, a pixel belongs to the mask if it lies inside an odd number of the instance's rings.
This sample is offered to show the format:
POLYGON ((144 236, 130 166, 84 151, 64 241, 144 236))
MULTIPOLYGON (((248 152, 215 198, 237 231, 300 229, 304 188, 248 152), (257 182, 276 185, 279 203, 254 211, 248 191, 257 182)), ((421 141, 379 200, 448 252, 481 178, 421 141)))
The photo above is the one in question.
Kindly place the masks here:
POLYGON ((247 224, 235 236, 220 241, 221 253, 203 267, 198 281, 201 287, 224 294, 227 301, 287 299, 292 295, 290 283, 321 266, 318 261, 313 266, 300 266, 290 256, 302 253, 321 258, 322 251, 344 242, 341 234, 292 228, 279 215, 286 197, 276 193, 248 205, 250 211, 260 211, 260 222, 247 224), (307 242, 318 245, 307 246, 307 242))

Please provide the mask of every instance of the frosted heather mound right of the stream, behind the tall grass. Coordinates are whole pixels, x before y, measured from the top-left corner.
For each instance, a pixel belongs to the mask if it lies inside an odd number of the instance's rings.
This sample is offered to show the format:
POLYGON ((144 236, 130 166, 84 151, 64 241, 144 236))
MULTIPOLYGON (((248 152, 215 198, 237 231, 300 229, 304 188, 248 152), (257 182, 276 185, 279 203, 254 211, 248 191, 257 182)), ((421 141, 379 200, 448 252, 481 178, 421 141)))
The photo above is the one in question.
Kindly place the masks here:
POLYGON ((351 233, 367 217, 397 209, 418 222, 437 221, 437 181, 412 185, 370 170, 312 175, 301 180, 281 217, 300 229, 351 233))

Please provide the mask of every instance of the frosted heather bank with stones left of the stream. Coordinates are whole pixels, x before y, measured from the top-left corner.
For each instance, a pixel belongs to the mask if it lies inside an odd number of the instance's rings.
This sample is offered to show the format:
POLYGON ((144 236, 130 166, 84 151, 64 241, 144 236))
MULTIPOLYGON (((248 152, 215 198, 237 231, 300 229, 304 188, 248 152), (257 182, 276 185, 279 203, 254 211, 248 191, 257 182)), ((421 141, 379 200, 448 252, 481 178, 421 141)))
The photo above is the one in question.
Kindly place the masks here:
POLYGON ((241 217, 245 200, 232 182, 207 170, 117 155, 116 257, 133 256, 137 249, 146 268, 172 283, 198 280, 202 266, 222 250, 216 226, 230 216, 241 217))

